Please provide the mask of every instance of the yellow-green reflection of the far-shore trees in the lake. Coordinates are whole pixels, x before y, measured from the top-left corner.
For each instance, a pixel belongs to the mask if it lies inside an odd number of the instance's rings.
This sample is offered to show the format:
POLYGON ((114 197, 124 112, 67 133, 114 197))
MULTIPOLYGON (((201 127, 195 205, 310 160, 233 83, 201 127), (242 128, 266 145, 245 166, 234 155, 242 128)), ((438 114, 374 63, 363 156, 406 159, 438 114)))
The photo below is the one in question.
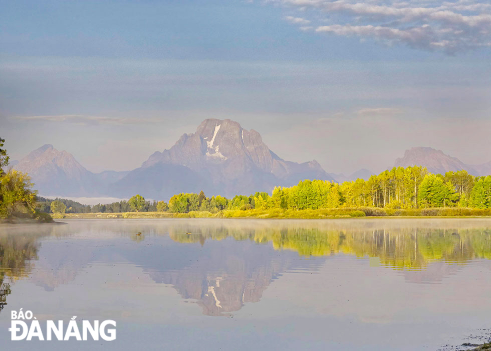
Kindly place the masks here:
POLYGON ((170 231, 178 242, 200 242, 233 237, 269 243, 277 250, 294 250, 302 256, 336 253, 379 257, 384 265, 422 268, 429 261, 465 262, 491 257, 491 229, 370 229, 322 230, 319 228, 270 228, 261 230, 217 230, 186 234, 170 231))

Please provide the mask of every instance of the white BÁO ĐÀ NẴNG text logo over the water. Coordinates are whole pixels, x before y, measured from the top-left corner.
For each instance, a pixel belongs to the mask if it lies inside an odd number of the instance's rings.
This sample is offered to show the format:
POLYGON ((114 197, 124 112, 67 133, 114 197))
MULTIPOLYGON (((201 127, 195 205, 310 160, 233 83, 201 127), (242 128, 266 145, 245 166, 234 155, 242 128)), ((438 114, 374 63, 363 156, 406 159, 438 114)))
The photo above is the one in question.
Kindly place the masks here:
POLYGON ((76 315, 68 323, 63 320, 46 320, 42 323, 32 311, 11 311, 12 340, 106 340, 116 339, 116 322, 111 319, 82 320, 81 325, 75 320, 76 315))

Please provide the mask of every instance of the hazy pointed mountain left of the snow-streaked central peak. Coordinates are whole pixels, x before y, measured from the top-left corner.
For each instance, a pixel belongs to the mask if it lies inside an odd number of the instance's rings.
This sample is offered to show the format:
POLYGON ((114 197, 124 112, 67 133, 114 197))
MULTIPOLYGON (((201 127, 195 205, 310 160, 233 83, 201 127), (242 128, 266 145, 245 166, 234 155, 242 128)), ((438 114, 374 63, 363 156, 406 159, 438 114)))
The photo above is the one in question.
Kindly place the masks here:
POLYGON ((97 196, 128 172, 104 171, 94 174, 67 151, 46 144, 15 163, 14 169, 26 172, 43 195, 97 196))

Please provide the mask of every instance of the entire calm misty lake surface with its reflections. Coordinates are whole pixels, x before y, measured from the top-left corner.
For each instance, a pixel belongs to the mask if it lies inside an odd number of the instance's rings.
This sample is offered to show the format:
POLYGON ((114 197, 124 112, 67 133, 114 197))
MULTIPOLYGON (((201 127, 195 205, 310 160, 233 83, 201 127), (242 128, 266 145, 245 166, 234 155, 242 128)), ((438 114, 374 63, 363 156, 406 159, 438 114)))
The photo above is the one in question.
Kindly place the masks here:
POLYGON ((63 222, 0 227, 1 349, 438 350, 491 327, 491 219, 63 222), (20 308, 117 338, 12 341, 20 308))

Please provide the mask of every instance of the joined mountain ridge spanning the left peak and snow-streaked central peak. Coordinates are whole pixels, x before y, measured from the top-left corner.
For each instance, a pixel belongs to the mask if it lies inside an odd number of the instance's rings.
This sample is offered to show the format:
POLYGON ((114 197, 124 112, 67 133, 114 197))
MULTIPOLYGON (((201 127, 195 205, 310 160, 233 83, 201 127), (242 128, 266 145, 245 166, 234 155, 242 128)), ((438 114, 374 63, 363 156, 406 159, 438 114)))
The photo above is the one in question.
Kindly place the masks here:
POLYGON ((51 144, 32 151, 14 168, 27 172, 43 195, 145 197, 167 200, 179 192, 249 195, 291 186, 302 179, 334 181, 316 160, 279 157, 254 129, 230 119, 205 119, 170 148, 156 151, 131 171, 92 173, 51 144))

